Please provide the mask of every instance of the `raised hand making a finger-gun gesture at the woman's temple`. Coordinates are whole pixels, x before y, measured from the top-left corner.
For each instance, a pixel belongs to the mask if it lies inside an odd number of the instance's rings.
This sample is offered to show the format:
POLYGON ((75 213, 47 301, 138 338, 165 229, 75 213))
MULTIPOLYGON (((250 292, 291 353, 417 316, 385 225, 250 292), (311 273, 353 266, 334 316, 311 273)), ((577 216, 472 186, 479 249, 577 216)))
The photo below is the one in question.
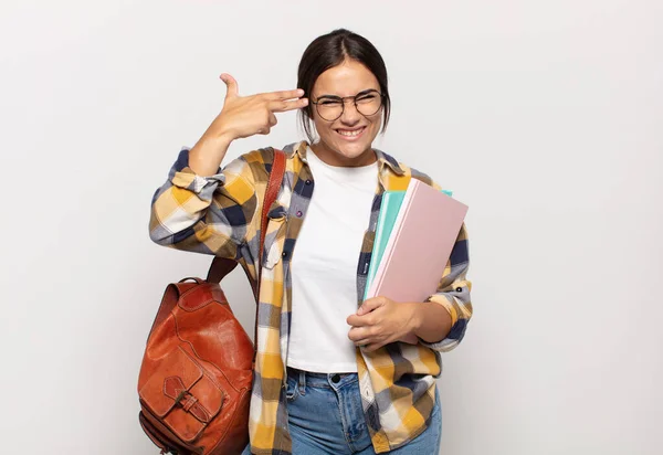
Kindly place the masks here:
POLYGON ((269 135, 276 125, 276 113, 301 109, 308 104, 303 89, 240 96, 238 82, 230 74, 221 74, 228 92, 223 109, 208 128, 210 136, 229 141, 253 135, 269 135))

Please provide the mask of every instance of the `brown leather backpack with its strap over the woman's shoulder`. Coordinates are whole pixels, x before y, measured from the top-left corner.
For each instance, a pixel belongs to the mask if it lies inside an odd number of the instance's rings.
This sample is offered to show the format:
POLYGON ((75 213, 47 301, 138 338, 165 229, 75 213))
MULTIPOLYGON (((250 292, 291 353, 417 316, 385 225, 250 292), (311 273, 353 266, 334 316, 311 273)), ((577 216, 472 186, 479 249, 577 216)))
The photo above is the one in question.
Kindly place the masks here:
MULTIPOLYGON (((274 150, 259 262, 284 172, 285 155, 274 150)), ((219 285, 235 266, 214 257, 206 281, 185 278, 164 294, 138 377, 140 425, 162 454, 241 454, 249 443, 255 351, 219 285)), ((254 285, 256 299, 257 290, 254 285)))

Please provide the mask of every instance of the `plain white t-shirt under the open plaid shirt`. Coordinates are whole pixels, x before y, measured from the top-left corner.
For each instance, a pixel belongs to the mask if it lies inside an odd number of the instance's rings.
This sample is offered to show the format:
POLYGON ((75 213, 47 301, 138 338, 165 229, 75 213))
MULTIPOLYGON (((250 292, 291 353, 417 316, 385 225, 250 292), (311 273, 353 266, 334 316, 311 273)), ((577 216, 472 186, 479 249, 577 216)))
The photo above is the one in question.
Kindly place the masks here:
POLYGON ((378 184, 377 162, 359 168, 325 163, 309 148, 315 187, 293 253, 287 366, 356 372, 348 316, 357 311, 357 264, 378 184))

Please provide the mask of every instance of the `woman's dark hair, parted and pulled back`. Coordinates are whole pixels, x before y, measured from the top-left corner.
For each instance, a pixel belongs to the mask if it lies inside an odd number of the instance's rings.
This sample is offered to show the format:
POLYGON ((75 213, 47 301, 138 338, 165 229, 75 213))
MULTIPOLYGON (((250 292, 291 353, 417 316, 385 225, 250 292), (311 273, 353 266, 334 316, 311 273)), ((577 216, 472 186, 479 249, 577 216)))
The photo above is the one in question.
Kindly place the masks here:
MULTIPOLYGON (((382 123, 382 131, 385 131, 391 110, 391 98, 387 88, 387 66, 376 46, 357 33, 338 29, 316 38, 308 44, 299 61, 297 88, 303 88, 304 96, 311 97, 313 85, 318 76, 329 68, 340 65, 348 59, 365 65, 378 80, 380 92, 382 93, 382 115, 385 120, 382 123)), ((299 119, 306 136, 313 141, 313 105, 311 103, 299 112, 299 119)))

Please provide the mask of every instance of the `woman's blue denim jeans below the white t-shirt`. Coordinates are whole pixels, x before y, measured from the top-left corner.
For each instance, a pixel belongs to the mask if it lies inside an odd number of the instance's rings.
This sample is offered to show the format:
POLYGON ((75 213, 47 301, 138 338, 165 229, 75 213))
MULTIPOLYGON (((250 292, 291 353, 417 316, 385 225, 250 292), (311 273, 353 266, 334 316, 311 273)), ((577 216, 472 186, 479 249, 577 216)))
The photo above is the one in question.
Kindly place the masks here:
MULTIPOLYGON (((309 373, 288 368, 286 395, 293 455, 375 455, 356 373, 309 373)), ((441 437, 442 411, 435 389, 429 427, 389 454, 438 455, 441 437)), ((242 452, 250 454, 250 447, 242 452)))

